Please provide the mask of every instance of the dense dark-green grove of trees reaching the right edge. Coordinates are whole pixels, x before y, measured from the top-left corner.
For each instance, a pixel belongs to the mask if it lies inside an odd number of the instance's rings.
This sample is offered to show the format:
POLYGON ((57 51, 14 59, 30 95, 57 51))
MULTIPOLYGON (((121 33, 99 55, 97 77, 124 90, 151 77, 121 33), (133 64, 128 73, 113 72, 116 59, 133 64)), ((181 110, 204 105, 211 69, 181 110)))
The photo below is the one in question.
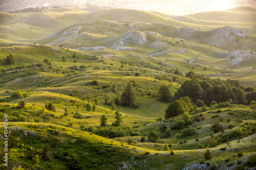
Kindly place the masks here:
POLYGON ((202 100, 207 106, 212 101, 217 103, 229 101, 233 104, 247 104, 256 100, 254 87, 245 87, 238 80, 221 80, 196 75, 193 71, 186 74, 187 78, 174 95, 174 100, 188 96, 194 103, 202 100))

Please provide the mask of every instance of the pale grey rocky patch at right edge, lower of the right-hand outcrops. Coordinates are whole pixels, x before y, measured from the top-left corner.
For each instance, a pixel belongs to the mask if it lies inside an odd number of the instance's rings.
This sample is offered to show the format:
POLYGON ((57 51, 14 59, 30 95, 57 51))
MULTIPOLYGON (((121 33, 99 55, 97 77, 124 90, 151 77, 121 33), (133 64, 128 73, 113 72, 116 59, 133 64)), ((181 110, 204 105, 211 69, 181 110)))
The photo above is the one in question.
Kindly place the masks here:
POLYGON ((226 55, 227 62, 229 66, 237 66, 244 59, 255 59, 256 53, 249 51, 232 51, 226 55))

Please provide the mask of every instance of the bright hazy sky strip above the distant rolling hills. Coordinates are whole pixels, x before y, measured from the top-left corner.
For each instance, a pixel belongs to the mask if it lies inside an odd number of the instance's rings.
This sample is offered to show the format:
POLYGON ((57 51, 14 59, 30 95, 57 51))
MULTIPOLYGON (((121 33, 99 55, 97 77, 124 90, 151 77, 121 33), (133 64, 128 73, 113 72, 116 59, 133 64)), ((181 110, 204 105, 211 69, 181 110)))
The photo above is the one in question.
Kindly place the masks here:
POLYGON ((0 11, 7 12, 37 6, 84 9, 90 3, 106 9, 125 8, 184 15, 203 11, 225 10, 234 7, 238 3, 251 2, 256 3, 256 0, 0 0, 0 11))

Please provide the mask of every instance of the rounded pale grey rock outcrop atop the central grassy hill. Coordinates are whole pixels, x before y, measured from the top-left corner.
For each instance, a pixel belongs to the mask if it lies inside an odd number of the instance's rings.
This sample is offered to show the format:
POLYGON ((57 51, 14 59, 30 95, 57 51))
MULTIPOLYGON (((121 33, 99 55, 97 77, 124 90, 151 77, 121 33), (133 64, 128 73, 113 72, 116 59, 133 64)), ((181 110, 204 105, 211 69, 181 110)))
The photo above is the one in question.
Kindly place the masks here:
POLYGON ((144 45, 147 42, 146 35, 139 31, 127 31, 122 34, 121 37, 113 43, 111 49, 115 46, 127 45, 127 43, 136 43, 138 45, 144 45))

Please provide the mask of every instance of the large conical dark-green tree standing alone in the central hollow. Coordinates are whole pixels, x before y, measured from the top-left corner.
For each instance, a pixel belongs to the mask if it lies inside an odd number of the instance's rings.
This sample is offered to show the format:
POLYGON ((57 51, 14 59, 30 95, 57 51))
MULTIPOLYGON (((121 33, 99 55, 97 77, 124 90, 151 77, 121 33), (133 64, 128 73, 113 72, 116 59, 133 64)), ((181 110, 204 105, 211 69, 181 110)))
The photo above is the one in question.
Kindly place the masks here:
POLYGON ((135 92, 130 83, 127 84, 125 90, 121 95, 121 104, 123 106, 132 106, 135 100, 135 92))

